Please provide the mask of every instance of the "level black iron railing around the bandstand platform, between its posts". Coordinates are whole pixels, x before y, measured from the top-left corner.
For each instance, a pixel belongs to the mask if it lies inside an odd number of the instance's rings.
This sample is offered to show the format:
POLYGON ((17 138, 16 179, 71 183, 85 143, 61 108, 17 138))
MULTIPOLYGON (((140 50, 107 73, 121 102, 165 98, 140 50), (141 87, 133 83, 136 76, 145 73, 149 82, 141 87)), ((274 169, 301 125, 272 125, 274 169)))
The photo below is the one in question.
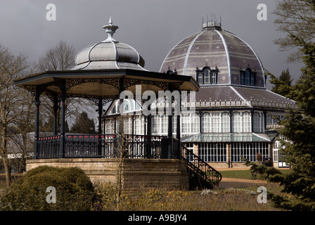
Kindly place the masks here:
MULTIPOLYGON (((37 141, 37 158, 60 158, 60 135, 41 137, 37 141)), ((115 134, 66 134, 65 158, 167 158, 166 136, 115 134)))

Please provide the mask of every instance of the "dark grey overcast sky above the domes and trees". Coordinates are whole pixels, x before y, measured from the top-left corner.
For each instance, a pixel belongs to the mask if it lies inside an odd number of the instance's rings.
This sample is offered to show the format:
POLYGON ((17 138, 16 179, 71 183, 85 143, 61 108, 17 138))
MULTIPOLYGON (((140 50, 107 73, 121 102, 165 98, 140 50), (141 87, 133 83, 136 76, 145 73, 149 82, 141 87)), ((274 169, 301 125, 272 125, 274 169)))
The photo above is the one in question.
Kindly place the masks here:
POLYGON ((215 14, 221 15, 224 30, 250 44, 264 68, 277 76, 289 68, 297 79, 301 65, 285 63, 288 52, 273 43, 284 35, 274 25, 275 7, 273 0, 0 0, 0 43, 12 53, 27 53, 30 61, 61 39, 80 51, 107 38, 102 27, 112 16, 120 27, 114 38, 139 51, 147 70, 159 71, 167 53, 199 32, 203 17, 215 14), (257 20, 261 3, 267 6, 267 21, 257 20), (56 21, 46 20, 47 4, 56 5, 56 21))

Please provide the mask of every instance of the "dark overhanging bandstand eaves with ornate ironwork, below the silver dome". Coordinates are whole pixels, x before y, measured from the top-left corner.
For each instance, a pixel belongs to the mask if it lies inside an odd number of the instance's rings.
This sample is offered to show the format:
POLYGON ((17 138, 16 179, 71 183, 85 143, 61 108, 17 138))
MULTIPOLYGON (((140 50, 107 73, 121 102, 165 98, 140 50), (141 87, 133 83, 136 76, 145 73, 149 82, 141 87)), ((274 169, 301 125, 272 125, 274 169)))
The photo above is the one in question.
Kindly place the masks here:
MULTIPOLYGON (((65 70, 46 71, 30 77, 15 80, 15 84, 32 94, 62 93, 82 98, 119 98, 124 90, 135 94, 136 85, 144 91, 198 91, 199 84, 191 76, 170 75, 141 70, 65 70)), ((141 93, 141 94, 142 94, 141 93)))

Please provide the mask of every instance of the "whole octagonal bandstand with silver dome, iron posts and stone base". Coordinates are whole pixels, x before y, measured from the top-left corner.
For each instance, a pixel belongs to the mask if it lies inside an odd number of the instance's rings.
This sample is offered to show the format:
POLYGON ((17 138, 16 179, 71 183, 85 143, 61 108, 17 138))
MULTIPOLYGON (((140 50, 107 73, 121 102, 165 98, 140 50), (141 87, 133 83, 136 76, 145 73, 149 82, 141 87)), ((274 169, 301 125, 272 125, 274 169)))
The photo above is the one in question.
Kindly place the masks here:
POLYGON ((181 146, 179 122, 176 139, 172 137, 172 115, 168 116, 167 136, 153 136, 150 124, 147 124, 148 132, 144 135, 124 135, 122 120, 114 134, 105 134, 105 129, 102 131, 105 104, 117 99, 122 104, 124 98, 121 94, 126 91, 136 97, 146 91, 157 95, 158 91, 199 89, 199 84, 191 76, 144 69, 144 60, 134 48, 113 39, 118 27, 111 19, 103 28, 108 39, 80 51, 72 70, 45 71, 15 80, 17 86, 32 93, 36 105, 34 156, 27 160, 27 170, 40 165, 80 167, 94 181, 115 182, 117 158, 123 154, 123 189, 127 191, 186 188, 191 186, 192 173, 205 180, 205 184, 218 184, 221 174, 181 146), (39 98, 44 96, 53 102, 51 136, 40 136, 39 131, 39 98), (98 134, 65 133, 66 98, 85 98, 96 103, 98 134), (57 130, 58 103, 61 103, 60 130, 57 130))

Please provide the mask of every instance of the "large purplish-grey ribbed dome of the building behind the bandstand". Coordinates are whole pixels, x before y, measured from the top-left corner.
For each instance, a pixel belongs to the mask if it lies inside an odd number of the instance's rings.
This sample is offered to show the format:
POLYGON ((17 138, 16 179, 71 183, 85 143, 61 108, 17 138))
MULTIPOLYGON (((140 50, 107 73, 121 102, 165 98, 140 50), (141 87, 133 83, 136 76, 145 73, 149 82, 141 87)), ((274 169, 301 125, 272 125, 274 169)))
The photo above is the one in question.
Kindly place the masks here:
POLYGON ((180 41, 165 58, 160 72, 176 70, 198 81, 196 68, 217 70, 215 84, 222 85, 242 85, 245 77, 241 77, 241 71, 250 69, 255 74, 255 86, 266 88, 262 63, 255 51, 240 37, 222 30, 221 23, 205 23, 203 30, 180 41))

